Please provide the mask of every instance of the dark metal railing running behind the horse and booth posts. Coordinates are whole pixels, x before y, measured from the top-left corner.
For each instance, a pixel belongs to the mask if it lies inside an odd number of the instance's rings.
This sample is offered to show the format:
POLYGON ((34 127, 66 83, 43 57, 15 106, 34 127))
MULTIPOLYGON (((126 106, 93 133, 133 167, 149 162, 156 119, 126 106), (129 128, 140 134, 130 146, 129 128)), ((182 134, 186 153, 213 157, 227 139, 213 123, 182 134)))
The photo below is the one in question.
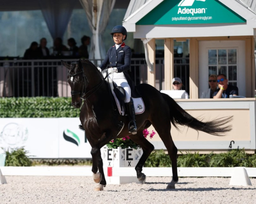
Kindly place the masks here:
MULTIPOLYGON (((61 59, 1 60, 0 97, 70 96, 66 81, 67 69, 61 59)), ((67 63, 77 59, 63 59, 67 63)), ((174 58, 174 75, 182 78, 189 90, 189 58, 174 58)), ((102 59, 90 60, 95 65, 102 59)), ((131 77, 135 84, 147 83, 147 65, 144 58, 132 58, 131 77)), ((156 58, 156 89, 164 89, 164 59, 156 58)))

